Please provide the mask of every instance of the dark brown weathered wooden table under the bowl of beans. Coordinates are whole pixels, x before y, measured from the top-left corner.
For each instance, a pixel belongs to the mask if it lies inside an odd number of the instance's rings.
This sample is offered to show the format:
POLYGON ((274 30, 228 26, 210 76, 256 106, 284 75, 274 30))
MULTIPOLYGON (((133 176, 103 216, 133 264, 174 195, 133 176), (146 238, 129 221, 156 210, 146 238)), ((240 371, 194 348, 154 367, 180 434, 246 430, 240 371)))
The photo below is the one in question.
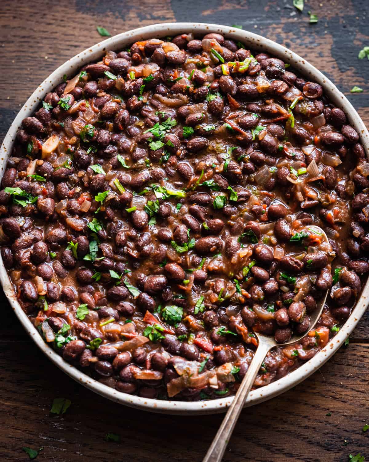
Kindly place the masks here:
MULTIPOLYGON (((30 93, 77 52, 112 34, 158 22, 242 24, 321 69, 369 122, 369 62, 357 54, 369 45, 367 0, 5 0, 0 9, 0 138, 30 93), (306 3, 308 3, 306 5, 306 3), (307 12, 319 17, 309 24, 307 12), (363 93, 351 94, 357 85, 363 93)), ((28 460, 22 446, 44 450, 40 461, 200 461, 221 415, 173 417, 119 406, 66 377, 20 327, 4 295, 0 328, 0 454, 28 460), (50 414, 55 397, 72 401, 63 416, 50 414), (120 443, 104 441, 119 433, 120 443)), ((224 461, 369 460, 369 314, 339 352, 309 379, 280 397, 245 409, 224 461), (329 415, 327 415, 329 414, 329 415), (345 440, 347 445, 345 445, 345 440)))

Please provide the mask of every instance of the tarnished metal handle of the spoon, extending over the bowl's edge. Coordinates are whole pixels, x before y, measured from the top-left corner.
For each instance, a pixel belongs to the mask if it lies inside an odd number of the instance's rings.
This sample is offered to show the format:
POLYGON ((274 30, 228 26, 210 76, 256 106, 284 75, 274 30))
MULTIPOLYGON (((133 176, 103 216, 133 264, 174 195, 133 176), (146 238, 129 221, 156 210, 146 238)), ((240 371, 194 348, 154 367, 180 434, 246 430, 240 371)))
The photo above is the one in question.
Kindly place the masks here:
POLYGON ((270 346, 267 343, 259 342, 256 353, 251 361, 249 369, 239 386, 237 393, 232 401, 231 406, 221 423, 217 434, 215 435, 211 446, 203 458, 202 462, 220 462, 222 460, 224 451, 232 436, 233 428, 237 423, 238 416, 244 406, 244 401, 249 394, 249 391, 254 383, 256 374, 258 373, 262 362, 267 355, 270 346))

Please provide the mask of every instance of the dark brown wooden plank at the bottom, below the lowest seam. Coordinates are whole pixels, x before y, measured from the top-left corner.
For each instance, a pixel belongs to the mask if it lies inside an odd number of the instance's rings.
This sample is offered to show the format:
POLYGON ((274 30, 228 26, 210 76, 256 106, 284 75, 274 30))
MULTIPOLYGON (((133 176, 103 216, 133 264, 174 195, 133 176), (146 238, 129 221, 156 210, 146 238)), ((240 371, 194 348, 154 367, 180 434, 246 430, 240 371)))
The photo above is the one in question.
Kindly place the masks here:
MULTIPOLYGON (((1 341, 1 352, 3 460, 22 460, 25 445, 44 446, 40 461, 50 462, 199 461, 222 419, 118 406, 66 377, 30 342, 1 341), (49 413, 56 397, 72 400, 63 416, 49 413), (106 432, 118 433, 121 443, 105 442, 106 432)), ((369 345, 341 348, 304 383, 245 409, 224 461, 346 461, 349 453, 367 454, 368 357, 369 345)))

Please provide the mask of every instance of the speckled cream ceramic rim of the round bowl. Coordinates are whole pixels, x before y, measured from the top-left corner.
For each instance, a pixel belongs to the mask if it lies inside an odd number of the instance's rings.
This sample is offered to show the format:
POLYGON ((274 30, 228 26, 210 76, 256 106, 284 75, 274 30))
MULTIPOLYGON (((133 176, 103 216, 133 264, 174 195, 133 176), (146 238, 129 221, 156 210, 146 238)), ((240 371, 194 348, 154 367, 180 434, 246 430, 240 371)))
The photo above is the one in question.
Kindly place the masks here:
MULTIPOLYGON (((346 116, 350 124, 357 130, 360 135, 360 141, 364 146, 364 149, 369 156, 369 133, 366 129, 357 111, 353 108, 347 98, 337 89, 333 83, 327 79, 327 77, 321 73, 318 69, 312 66, 304 58, 300 57, 296 53, 287 49, 283 45, 276 43, 270 39, 264 38, 253 32, 243 29, 237 29, 231 26, 225 26, 220 24, 208 24, 208 23, 160 23, 140 27, 137 29, 122 32, 116 36, 107 38, 106 40, 89 47, 77 55, 65 61, 60 67, 58 67, 53 73, 51 73, 41 85, 31 94, 26 103, 14 121, 12 122, 4 141, 0 148, 0 176, 6 168, 7 158, 10 156, 12 150, 12 144, 15 140, 15 136, 18 128, 21 125, 24 117, 30 116, 37 105, 42 101, 43 96, 51 91, 56 85, 62 82, 63 75, 66 74, 70 78, 73 77, 80 67, 91 61, 96 61, 102 56, 106 49, 123 49, 125 45, 136 42, 138 40, 147 39, 150 37, 162 37, 162 36, 173 36, 181 33, 195 34, 207 34, 210 32, 219 32, 228 38, 240 41, 251 49, 257 49, 260 51, 267 52, 274 57, 278 57, 288 64, 291 64, 301 75, 307 78, 311 78, 313 81, 319 83, 329 98, 337 107, 345 111, 346 116)), ((193 415, 193 414, 211 414, 225 412, 226 408, 232 403, 233 397, 217 398, 208 401, 173 401, 173 400, 158 400, 142 398, 140 396, 128 395, 126 393, 119 392, 115 389, 108 387, 102 383, 99 383, 91 377, 79 371, 76 367, 67 363, 59 354, 55 353, 54 350, 44 342, 41 335, 38 333, 36 328, 30 322, 27 315, 22 310, 16 295, 13 291, 11 282, 9 280, 6 268, 0 256, 0 282, 3 286, 6 297, 8 298, 12 309, 14 310, 18 320, 23 325, 26 332, 34 340, 36 345, 42 350, 42 352, 48 356, 49 359, 62 371, 64 371, 71 378, 81 383, 88 389, 98 393, 101 396, 108 398, 109 400, 124 404, 126 406, 139 408, 146 411, 156 413, 167 413, 167 414, 182 414, 182 415, 193 415)), ((321 365, 323 365, 338 348, 343 344, 346 338, 349 336, 351 331, 356 327, 357 322, 363 316, 364 311, 367 308, 367 298, 369 296, 369 280, 366 282, 362 295, 357 301, 355 308, 352 310, 351 316, 339 330, 339 332, 331 339, 331 341, 325 346, 319 353, 317 353, 312 359, 298 367, 296 370, 288 373, 285 377, 265 385, 262 388, 252 390, 245 401, 245 407, 252 406, 271 399, 282 392, 287 391, 302 382, 305 378, 309 377, 315 372, 321 365)))

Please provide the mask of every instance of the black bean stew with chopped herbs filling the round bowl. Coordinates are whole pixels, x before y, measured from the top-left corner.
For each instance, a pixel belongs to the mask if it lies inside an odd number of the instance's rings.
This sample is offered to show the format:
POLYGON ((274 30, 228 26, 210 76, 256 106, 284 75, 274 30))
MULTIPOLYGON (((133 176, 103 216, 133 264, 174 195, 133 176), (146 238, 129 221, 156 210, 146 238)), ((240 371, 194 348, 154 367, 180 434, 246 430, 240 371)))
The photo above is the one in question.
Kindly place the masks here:
POLYGON ((262 387, 350 316, 369 163, 345 113, 292 71, 216 33, 153 38, 106 51, 23 120, 1 256, 66 361, 124 393, 214 399, 236 392, 254 332, 306 332, 268 353, 262 387))

